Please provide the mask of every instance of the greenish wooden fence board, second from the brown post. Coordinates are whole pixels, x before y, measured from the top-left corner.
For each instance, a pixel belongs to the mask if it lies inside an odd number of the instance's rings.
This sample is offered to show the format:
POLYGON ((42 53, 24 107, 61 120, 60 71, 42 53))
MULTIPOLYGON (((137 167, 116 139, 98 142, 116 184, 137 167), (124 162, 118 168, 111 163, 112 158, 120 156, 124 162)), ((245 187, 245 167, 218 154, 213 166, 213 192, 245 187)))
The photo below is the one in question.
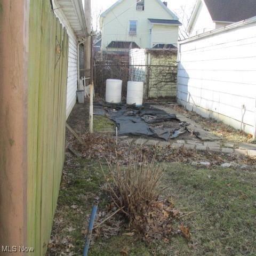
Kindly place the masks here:
POLYGON ((49 159, 47 151, 50 149, 50 141, 47 143, 47 126, 49 125, 49 105, 48 105, 48 85, 49 85, 49 47, 50 47, 50 14, 49 1, 43 1, 43 13, 42 13, 42 40, 41 40, 41 59, 40 59, 40 83, 39 83, 39 110, 38 110, 38 171, 41 173, 41 255, 47 245, 46 237, 49 229, 49 215, 47 202, 49 197, 48 188, 45 186, 47 182, 50 182, 47 175, 47 169, 49 169, 49 159))

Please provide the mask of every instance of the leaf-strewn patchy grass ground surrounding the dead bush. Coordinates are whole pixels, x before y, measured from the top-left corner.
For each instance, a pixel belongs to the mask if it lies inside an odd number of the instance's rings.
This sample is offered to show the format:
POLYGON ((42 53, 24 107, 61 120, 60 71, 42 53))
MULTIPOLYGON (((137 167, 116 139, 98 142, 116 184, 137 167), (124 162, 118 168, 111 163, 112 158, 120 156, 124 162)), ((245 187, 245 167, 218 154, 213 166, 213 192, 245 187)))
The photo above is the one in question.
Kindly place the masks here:
MULTIPOLYGON (((82 254, 94 199, 97 197, 100 202, 97 221, 106 214, 111 203, 101 166, 107 173, 106 158, 115 162, 116 156, 119 163, 126 166, 129 154, 135 151, 149 158, 156 156, 164 170, 162 187, 167 188, 161 196, 168 198, 180 211, 191 213, 174 224, 188 226, 191 239, 178 235, 170 237, 168 242, 148 244, 135 230, 127 229, 122 215, 116 215, 94 233, 89 255, 256 255, 254 158, 169 146, 140 146, 131 143, 133 138, 126 137, 116 146, 115 126, 106 117, 94 116, 95 133, 88 133, 88 110, 88 102, 77 104, 67 121, 86 145, 79 145, 67 131, 66 162, 48 256, 82 254), (198 164, 200 162, 210 165, 198 164), (221 167, 222 163, 233 164, 221 167)), ((190 118, 202 124, 206 122, 197 116, 190 118)), ((207 125, 209 130, 214 130, 214 124, 207 125)), ((225 130, 224 138, 230 139, 227 131, 231 128, 224 125, 221 129, 225 130)), ((220 129, 217 130, 219 134, 220 129)), ((190 133, 186 135, 193 137, 190 133)), ((232 138, 234 142, 248 141, 246 134, 239 138, 232 135, 232 138)))

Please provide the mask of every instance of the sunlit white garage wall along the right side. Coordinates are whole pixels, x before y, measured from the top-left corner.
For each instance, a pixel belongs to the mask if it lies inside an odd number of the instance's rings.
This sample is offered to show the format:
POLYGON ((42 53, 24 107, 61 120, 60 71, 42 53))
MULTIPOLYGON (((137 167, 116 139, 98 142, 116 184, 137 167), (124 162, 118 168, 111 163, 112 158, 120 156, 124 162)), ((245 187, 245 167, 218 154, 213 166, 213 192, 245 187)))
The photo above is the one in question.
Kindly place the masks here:
POLYGON ((255 134, 256 19, 181 41, 178 102, 255 134))

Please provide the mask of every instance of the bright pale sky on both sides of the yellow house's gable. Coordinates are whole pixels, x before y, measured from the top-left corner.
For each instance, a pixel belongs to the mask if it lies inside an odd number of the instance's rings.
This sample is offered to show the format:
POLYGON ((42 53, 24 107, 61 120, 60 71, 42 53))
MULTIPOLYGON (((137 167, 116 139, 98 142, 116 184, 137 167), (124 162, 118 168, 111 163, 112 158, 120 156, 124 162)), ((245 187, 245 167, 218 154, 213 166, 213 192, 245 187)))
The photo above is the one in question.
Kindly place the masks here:
MULTIPOLYGON (((82 0, 84 2, 84 0, 82 0)), ((95 28, 95 21, 100 13, 107 10, 108 7, 113 5, 117 0, 91 0, 92 3, 92 20, 93 20, 93 27, 95 28)), ((151 0, 148 0, 151 1, 151 0)), ((181 6, 185 6, 185 11, 190 13, 191 8, 193 8, 196 0, 167 0, 169 9, 177 13, 181 12, 181 6)))

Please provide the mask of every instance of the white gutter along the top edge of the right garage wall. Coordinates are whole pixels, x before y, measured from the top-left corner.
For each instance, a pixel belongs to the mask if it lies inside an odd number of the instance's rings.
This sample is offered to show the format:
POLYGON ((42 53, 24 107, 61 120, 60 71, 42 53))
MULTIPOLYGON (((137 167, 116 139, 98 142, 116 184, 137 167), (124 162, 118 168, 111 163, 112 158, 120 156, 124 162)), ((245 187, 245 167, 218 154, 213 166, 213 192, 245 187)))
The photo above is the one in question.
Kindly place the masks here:
POLYGON ((247 20, 242 20, 242 21, 239 21, 239 22, 236 22, 236 23, 232 23, 231 25, 228 25, 228 26, 223 27, 223 28, 214 29, 214 30, 208 31, 204 34, 200 34, 200 35, 197 35, 197 36, 190 37, 190 38, 185 39, 183 41, 179 41, 179 43, 180 44, 185 44, 185 43, 188 43, 188 42, 191 42, 191 41, 195 41, 197 39, 201 39, 201 38, 208 37, 208 36, 211 36, 211 35, 219 34, 219 33, 234 29, 234 28, 239 28, 239 27, 242 27, 242 26, 245 26, 245 25, 249 25, 250 23, 253 23, 253 22, 256 22, 256 16, 252 17, 250 19, 247 19, 247 20))

